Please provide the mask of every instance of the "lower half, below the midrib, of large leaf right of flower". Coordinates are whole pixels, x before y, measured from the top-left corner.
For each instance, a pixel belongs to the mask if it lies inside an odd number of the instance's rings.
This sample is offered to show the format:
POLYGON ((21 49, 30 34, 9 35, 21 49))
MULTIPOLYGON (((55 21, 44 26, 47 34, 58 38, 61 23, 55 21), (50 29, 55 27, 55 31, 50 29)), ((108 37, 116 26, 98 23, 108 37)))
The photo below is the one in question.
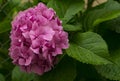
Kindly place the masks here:
POLYGON ((93 65, 103 65, 110 63, 108 60, 76 44, 70 45, 69 49, 67 50, 67 54, 70 57, 73 57, 74 59, 83 63, 89 63, 93 65))

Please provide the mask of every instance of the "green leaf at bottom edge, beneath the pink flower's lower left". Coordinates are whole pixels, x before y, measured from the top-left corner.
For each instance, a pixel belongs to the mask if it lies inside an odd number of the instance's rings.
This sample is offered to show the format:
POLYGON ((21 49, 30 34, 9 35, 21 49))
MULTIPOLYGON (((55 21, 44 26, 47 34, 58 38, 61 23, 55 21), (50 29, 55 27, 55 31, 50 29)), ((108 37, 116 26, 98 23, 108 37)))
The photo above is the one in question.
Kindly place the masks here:
POLYGON ((17 66, 12 71, 12 81, 31 81, 33 78, 33 74, 24 73, 17 66))

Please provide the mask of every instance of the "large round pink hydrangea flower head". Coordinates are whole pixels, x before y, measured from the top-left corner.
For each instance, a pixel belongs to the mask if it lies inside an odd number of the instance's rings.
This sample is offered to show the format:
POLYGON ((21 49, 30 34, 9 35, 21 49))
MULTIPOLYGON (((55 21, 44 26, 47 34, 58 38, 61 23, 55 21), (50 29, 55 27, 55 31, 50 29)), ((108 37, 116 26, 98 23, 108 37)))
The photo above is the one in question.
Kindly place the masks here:
POLYGON ((62 49, 69 46, 68 33, 61 24, 55 11, 43 3, 19 12, 10 35, 13 63, 40 75, 51 70, 62 49))

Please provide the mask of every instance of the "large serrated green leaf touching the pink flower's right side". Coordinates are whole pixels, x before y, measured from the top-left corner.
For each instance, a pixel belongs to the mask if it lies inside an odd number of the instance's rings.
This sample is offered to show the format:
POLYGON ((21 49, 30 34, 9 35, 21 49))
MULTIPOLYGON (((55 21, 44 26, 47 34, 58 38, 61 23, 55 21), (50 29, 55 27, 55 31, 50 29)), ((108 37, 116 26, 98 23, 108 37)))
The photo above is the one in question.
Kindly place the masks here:
POLYGON ((96 33, 78 33, 72 37, 74 39, 67 49, 67 54, 74 59, 93 65, 111 63, 104 57, 108 57, 108 48, 105 41, 96 33))

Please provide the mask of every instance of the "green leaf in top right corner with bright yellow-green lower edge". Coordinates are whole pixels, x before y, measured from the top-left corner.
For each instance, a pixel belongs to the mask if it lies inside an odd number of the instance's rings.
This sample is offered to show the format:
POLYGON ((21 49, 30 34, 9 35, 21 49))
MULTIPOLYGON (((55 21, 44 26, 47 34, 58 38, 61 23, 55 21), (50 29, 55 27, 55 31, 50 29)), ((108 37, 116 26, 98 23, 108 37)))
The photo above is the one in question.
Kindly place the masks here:
POLYGON ((85 13, 84 26, 92 29, 96 25, 117 18, 120 16, 120 4, 113 0, 108 0, 85 13))

